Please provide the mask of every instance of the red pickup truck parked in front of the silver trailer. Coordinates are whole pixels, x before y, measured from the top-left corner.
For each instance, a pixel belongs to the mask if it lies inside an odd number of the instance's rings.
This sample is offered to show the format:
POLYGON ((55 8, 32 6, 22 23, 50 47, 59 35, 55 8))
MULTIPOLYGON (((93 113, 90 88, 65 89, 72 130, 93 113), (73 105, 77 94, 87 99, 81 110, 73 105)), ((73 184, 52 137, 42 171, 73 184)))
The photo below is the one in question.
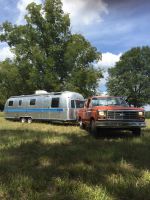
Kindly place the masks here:
POLYGON ((145 127, 143 108, 129 107, 122 97, 94 96, 85 101, 84 108, 78 110, 81 128, 89 127, 92 135, 98 135, 98 128, 131 130, 141 135, 145 127))

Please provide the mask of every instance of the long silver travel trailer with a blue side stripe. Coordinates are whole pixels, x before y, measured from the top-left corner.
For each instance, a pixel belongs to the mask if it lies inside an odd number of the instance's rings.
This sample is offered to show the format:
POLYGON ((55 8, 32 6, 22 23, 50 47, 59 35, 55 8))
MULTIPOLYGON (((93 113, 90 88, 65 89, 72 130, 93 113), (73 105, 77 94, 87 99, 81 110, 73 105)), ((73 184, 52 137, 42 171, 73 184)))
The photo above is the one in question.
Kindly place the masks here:
POLYGON ((31 123, 32 120, 71 122, 77 120, 77 109, 84 98, 75 92, 36 91, 32 95, 10 97, 5 104, 6 119, 31 123))

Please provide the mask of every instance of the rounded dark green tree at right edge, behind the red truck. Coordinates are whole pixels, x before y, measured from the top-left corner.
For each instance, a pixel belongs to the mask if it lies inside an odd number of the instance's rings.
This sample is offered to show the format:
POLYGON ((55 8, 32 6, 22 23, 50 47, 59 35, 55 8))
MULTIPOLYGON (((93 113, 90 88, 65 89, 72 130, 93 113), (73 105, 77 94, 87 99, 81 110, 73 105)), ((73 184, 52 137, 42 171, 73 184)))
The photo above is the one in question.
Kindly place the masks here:
POLYGON ((108 91, 126 96, 136 107, 150 102, 150 47, 137 47, 124 53, 114 68, 109 69, 108 91))

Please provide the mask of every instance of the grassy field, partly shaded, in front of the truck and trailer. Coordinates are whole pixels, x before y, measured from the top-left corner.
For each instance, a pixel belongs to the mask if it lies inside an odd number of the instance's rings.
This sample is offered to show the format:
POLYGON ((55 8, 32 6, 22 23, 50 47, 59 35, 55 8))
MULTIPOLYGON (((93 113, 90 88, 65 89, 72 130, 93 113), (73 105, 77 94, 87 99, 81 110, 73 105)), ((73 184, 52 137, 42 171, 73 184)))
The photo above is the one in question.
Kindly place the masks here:
POLYGON ((0 114, 0 200, 149 200, 150 120, 140 138, 0 114))

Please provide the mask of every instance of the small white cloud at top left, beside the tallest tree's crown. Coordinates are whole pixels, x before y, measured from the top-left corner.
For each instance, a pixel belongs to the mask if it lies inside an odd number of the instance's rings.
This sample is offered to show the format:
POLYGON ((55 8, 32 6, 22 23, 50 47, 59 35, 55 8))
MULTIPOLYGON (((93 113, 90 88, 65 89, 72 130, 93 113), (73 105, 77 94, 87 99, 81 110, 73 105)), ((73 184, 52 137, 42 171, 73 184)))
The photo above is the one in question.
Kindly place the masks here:
POLYGON ((24 16, 26 14, 26 7, 28 4, 35 2, 37 4, 41 4, 42 0, 19 0, 17 3, 17 9, 19 10, 19 16, 16 21, 17 24, 24 23, 24 16))

